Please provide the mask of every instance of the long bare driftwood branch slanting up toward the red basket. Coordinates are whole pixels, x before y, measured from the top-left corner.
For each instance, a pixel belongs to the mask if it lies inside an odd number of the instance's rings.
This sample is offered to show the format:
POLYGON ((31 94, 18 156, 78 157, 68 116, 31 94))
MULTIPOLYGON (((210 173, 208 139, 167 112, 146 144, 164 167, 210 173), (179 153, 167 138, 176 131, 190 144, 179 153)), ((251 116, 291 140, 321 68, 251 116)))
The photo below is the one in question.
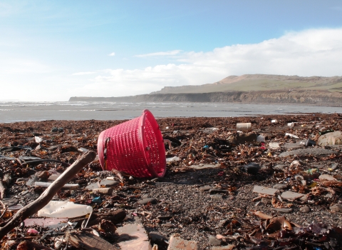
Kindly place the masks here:
POLYGON ((32 214, 36 214, 40 209, 42 209, 49 201, 53 198, 53 196, 61 190, 61 188, 75 176, 78 171, 80 171, 86 164, 89 164, 91 161, 95 159, 95 152, 88 151, 86 154, 83 154, 80 158, 77 159, 71 166, 66 169, 66 171, 58 176, 58 178, 53 181, 51 186, 43 191, 41 196, 36 199, 36 201, 27 204, 22 209, 20 209, 8 222, 6 221, 0 227, 0 239, 4 238, 6 234, 9 233, 16 226, 19 226, 22 221, 31 216, 32 214))

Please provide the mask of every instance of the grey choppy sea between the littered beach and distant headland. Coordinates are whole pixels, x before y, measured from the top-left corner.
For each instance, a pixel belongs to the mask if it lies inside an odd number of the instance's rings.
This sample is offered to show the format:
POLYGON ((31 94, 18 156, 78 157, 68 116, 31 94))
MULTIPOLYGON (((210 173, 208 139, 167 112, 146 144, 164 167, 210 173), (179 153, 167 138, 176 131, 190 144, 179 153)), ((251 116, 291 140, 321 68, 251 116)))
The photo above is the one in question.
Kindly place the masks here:
POLYGON ((162 117, 237 117, 281 114, 342 113, 342 107, 299 104, 214 102, 0 101, 0 123, 45 120, 125 120, 148 109, 162 117))

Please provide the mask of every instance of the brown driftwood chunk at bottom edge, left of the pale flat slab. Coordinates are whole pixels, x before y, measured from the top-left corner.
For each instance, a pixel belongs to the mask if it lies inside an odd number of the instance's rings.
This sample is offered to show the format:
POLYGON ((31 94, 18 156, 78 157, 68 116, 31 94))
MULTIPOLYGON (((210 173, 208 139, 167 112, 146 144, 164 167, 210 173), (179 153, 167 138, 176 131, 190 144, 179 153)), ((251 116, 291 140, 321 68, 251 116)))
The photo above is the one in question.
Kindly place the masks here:
POLYGON ((71 233, 67 234, 68 243, 78 249, 86 250, 118 250, 118 248, 108 241, 89 233, 71 233))

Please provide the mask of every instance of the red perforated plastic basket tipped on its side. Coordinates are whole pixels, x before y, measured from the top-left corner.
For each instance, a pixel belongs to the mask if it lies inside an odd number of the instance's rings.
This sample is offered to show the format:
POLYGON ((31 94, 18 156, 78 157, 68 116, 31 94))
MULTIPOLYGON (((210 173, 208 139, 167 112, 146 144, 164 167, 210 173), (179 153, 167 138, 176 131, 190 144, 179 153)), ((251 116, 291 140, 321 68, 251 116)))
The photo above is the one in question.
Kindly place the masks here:
POLYGON ((117 169, 135 177, 162 177, 166 171, 164 140, 150 111, 98 136, 98 158, 104 170, 117 169))

